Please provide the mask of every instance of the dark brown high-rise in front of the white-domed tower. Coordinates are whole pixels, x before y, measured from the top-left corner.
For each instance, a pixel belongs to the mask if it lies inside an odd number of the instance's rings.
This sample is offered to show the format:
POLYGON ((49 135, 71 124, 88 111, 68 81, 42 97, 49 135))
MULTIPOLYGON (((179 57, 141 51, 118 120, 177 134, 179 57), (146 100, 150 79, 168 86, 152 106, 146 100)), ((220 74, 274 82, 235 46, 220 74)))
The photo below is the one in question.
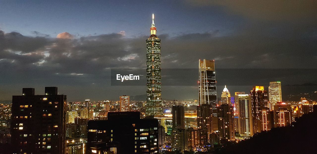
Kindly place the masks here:
POLYGON ((233 121, 233 106, 231 103, 221 104, 218 108, 218 127, 220 139, 226 141, 235 140, 233 121))

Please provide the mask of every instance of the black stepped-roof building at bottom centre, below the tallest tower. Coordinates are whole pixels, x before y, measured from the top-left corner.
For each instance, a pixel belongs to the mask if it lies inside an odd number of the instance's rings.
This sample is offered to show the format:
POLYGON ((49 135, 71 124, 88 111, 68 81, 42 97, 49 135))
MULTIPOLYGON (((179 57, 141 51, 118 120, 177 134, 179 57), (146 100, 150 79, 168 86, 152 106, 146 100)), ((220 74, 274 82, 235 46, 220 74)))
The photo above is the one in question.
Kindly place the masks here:
POLYGON ((109 112, 107 120, 88 121, 87 154, 157 154, 158 120, 140 112, 109 112))

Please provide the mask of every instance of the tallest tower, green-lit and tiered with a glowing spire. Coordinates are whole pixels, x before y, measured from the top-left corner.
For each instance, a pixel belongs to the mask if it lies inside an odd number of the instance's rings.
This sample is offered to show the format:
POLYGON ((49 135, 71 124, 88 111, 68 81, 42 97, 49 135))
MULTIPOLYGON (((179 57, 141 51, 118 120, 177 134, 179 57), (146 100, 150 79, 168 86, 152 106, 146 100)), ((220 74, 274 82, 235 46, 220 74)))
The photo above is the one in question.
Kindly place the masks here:
POLYGON ((152 14, 151 35, 146 40, 146 111, 145 115, 163 115, 161 100, 161 40, 156 35, 152 14))

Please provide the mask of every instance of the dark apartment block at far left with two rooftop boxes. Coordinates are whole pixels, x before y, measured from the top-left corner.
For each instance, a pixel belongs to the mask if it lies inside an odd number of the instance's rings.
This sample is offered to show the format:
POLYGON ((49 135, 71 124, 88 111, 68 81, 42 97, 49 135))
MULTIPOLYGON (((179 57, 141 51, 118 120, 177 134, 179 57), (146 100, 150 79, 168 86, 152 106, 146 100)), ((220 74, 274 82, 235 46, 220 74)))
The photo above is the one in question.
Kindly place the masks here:
POLYGON ((11 144, 14 153, 64 153, 66 95, 57 87, 45 87, 44 95, 34 88, 23 88, 12 97, 11 144))

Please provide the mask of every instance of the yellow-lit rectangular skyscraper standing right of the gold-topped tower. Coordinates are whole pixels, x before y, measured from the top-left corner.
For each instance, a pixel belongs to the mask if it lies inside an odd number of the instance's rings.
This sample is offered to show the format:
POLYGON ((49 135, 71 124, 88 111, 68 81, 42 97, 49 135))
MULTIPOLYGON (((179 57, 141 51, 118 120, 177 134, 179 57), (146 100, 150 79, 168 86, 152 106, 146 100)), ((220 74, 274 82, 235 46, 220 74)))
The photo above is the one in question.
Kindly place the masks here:
POLYGON ((281 81, 270 82, 268 87, 268 99, 270 101, 270 109, 273 110, 276 102, 282 101, 281 81))

